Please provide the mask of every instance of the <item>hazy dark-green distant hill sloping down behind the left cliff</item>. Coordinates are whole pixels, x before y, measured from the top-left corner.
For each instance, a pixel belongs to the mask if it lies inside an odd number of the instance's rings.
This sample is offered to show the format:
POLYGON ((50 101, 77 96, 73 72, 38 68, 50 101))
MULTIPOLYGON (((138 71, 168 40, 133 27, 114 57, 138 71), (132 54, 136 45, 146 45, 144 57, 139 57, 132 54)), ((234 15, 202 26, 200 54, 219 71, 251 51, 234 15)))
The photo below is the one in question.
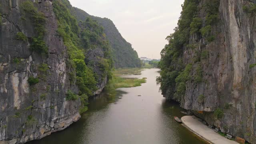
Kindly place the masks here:
POLYGON ((90 17, 103 26, 104 33, 106 34, 113 50, 114 66, 116 68, 142 66, 137 52, 132 48, 132 45, 122 37, 112 20, 91 16, 84 10, 75 7, 71 8, 70 11, 78 20, 84 21, 87 17, 90 17))

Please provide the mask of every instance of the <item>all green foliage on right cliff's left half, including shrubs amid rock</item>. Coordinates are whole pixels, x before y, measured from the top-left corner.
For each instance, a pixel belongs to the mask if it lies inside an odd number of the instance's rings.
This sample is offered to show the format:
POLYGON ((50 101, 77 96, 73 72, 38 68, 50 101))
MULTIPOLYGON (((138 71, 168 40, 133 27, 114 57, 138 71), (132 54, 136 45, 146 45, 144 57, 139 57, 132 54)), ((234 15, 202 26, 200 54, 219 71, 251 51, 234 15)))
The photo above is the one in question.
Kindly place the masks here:
MULTIPOLYGON (((212 26, 218 22, 219 0, 202 2, 200 0, 185 0, 182 5, 182 12, 178 20, 178 27, 174 33, 167 36, 169 44, 161 51, 160 77, 157 78, 158 84, 161 84, 160 90, 167 97, 182 100, 186 92, 186 82, 203 82, 203 70, 201 60, 208 58, 208 51, 197 50, 198 43, 191 43, 190 35, 197 35, 198 39, 204 38, 206 42, 215 40, 212 32, 212 26), (206 17, 200 18, 198 8, 206 12, 206 17), (191 49, 193 52, 193 62, 187 64, 183 62, 183 52, 185 49, 191 49), (196 65, 195 65, 196 64, 196 65), (192 68, 195 68, 192 72, 192 68), (192 74, 194 73, 194 76, 192 74)), ((200 101, 201 102, 201 101, 200 101)))

